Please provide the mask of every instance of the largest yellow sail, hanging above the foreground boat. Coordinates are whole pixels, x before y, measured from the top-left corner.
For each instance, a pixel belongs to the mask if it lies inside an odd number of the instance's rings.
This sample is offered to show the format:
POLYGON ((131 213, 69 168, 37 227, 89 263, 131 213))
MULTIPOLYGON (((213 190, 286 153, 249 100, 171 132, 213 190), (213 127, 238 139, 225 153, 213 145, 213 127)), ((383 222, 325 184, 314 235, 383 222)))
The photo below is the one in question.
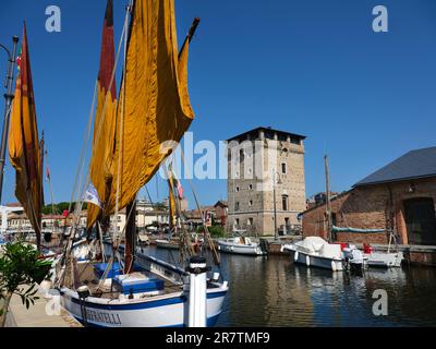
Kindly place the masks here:
POLYGON ((106 215, 134 198, 180 142, 194 113, 187 93, 189 43, 178 55, 173 0, 137 0, 120 89, 113 179, 106 215), (118 191, 119 189, 119 191, 118 191))

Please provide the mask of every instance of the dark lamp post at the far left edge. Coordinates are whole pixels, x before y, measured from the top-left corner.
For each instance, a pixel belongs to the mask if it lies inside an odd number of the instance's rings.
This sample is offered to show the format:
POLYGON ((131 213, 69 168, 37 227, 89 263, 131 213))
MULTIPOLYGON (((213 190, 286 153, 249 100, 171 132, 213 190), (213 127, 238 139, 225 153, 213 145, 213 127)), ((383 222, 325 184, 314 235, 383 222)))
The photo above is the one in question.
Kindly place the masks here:
POLYGON ((5 153, 7 153, 7 142, 8 142, 8 132, 9 132, 9 120, 11 117, 11 107, 14 95, 12 94, 12 84, 13 84, 13 75, 14 75, 14 64, 16 59, 16 45, 19 44, 19 37, 12 37, 13 49, 12 55, 8 50, 8 48, 0 44, 0 47, 4 49, 8 53, 8 71, 7 79, 4 82, 4 87, 7 88, 7 93, 4 95, 5 104, 4 104, 4 120, 3 120, 3 132, 1 135, 1 148, 0 148, 0 203, 2 200, 3 193, 3 173, 4 173, 4 163, 5 163, 5 153))

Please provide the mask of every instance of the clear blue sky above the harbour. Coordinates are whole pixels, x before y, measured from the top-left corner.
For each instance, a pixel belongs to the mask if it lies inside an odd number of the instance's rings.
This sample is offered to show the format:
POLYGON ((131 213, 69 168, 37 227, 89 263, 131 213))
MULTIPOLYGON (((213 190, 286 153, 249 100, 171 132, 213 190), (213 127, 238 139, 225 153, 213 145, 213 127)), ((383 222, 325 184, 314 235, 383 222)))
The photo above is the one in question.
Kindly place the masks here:
MULTIPOLYGON (((126 0, 114 3, 118 38, 126 0)), ((56 201, 70 200, 105 5, 106 0, 1 5, 0 43, 10 45, 27 21, 56 201), (49 4, 62 10, 59 34, 45 31, 49 4)), ((196 141, 218 142, 258 125, 305 134, 307 196, 324 190, 326 152, 331 189, 342 191, 410 149, 436 145, 436 1, 175 0, 175 5, 180 44, 193 17, 202 17, 190 60, 196 141), (389 11, 389 33, 372 31, 377 4, 389 11)), ((5 63, 0 52, 1 80, 5 63)), ((3 100, 0 108, 2 113, 3 100)), ((203 204, 226 197, 223 180, 194 184, 203 204)), ((13 185, 8 163, 3 203, 15 201, 13 185)), ((155 188, 153 181, 154 196, 155 188)), ((159 194, 162 198, 162 183, 159 194)))

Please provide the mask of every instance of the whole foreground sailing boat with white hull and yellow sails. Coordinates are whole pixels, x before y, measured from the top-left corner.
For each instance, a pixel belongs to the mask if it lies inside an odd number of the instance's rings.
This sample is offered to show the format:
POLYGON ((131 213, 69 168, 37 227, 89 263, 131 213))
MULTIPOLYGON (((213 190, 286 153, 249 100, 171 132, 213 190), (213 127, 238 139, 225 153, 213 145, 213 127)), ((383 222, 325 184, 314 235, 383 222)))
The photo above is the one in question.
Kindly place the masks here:
MULTIPOLYGON (((105 26, 111 24, 109 0, 105 26)), ((108 31, 105 33, 107 49, 111 44, 108 31)), ((189 272, 146 255, 136 262, 148 273, 135 263, 135 197, 171 154, 171 148, 162 146, 167 141, 179 142, 194 118, 187 94, 187 50, 193 32, 178 55, 173 0, 136 0, 125 16, 123 35, 128 33, 118 101, 112 89, 116 64, 109 81, 101 74, 104 67, 100 70, 88 181, 102 202, 89 215, 88 228, 94 221, 117 217, 125 207, 125 244, 120 243, 123 233, 114 229, 109 263, 77 264, 71 256, 72 233, 56 287, 63 306, 89 326, 185 326, 187 299, 194 294, 185 285, 189 272)), ((207 325, 217 321, 227 291, 227 282, 217 277, 207 281, 207 325)))

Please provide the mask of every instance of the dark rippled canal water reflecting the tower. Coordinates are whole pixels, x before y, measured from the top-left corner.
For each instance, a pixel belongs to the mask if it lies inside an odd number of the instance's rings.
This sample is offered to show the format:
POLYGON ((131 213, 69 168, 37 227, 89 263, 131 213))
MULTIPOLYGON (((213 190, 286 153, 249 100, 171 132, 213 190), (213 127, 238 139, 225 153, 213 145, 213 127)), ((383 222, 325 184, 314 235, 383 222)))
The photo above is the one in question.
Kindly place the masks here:
MULTIPOLYGON (((178 251, 149 248, 171 261, 178 251)), ((436 268, 370 268, 363 276, 294 265, 289 256, 221 254, 229 293, 217 326, 436 326, 436 268), (388 315, 373 315, 376 289, 388 315)))

